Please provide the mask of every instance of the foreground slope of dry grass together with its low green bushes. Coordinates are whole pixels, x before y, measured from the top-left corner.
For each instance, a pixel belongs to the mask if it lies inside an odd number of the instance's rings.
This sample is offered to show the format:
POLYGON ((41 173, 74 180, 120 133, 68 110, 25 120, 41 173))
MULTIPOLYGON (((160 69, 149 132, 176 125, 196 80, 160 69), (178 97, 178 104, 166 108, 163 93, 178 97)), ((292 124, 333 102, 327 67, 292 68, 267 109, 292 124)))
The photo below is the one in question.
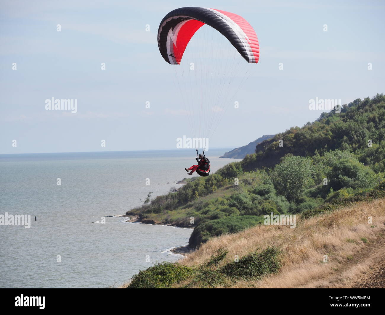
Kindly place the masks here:
POLYGON ((370 255, 384 243, 382 198, 320 216, 300 216, 296 228, 258 225, 211 238, 179 263, 142 270, 126 287, 346 287, 370 271, 370 255))

